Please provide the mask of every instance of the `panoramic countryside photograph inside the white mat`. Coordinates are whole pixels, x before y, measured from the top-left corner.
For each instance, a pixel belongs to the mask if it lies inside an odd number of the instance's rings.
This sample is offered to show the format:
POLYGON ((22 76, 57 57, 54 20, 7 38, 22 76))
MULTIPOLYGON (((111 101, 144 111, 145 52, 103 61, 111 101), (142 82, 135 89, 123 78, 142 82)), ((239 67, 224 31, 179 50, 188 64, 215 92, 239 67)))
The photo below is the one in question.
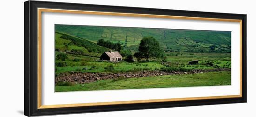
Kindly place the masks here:
POLYGON ((55 24, 55 92, 231 85, 231 32, 55 24))

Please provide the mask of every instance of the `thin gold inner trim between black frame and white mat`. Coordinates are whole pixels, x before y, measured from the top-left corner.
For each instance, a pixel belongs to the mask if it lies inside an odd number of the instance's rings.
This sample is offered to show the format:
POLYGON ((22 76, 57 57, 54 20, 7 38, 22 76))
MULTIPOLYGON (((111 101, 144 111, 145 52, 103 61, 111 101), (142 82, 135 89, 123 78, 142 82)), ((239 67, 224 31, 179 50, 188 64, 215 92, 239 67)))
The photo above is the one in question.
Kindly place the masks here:
POLYGON ((95 12, 95 11, 79 11, 79 10, 63 10, 63 9, 37 9, 37 26, 38 26, 38 82, 37 96, 38 109, 49 108, 65 108, 65 107, 81 107, 81 106, 96 106, 96 105, 111 105, 111 104, 135 104, 135 103, 154 103, 154 102, 171 102, 184 100, 202 100, 202 99, 220 99, 242 97, 242 20, 234 19, 217 19, 217 18, 201 18, 201 17, 186 17, 186 16, 169 16, 169 15, 152 15, 152 14, 137 14, 137 13, 115 13, 115 12, 95 12), (93 15, 114 15, 114 16, 129 16, 129 17, 147 17, 147 18, 165 18, 165 19, 180 19, 180 20, 208 20, 208 21, 227 21, 240 23, 240 95, 228 96, 211 96, 211 97, 185 97, 185 98, 169 98, 169 99, 150 99, 150 100, 133 100, 133 101, 116 101, 116 102, 98 102, 98 103, 81 103, 81 104, 56 104, 42 105, 41 104, 41 13, 76 13, 76 14, 93 14, 93 15))

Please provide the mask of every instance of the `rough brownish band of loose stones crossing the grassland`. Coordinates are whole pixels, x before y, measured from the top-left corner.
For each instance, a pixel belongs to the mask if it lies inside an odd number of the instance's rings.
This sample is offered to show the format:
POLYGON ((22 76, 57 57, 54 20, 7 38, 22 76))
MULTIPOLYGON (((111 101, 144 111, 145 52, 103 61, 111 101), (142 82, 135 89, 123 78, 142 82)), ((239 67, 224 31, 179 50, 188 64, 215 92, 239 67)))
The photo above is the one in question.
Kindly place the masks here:
POLYGON ((211 70, 192 70, 189 72, 184 71, 136 71, 136 72, 124 72, 124 73, 62 73, 60 76, 55 78, 55 83, 59 81, 76 82, 76 83, 90 83, 102 79, 113 79, 119 77, 126 78, 140 78, 149 76, 162 76, 162 75, 173 75, 173 74, 194 74, 212 71, 231 71, 229 68, 218 68, 211 70))

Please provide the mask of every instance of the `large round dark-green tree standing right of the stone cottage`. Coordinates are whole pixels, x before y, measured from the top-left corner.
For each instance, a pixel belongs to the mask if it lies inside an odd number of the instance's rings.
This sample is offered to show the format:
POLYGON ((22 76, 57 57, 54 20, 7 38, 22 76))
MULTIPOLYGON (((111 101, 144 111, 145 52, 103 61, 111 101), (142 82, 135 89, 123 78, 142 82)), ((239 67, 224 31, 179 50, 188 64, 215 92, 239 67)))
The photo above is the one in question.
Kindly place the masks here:
POLYGON ((159 42, 153 37, 144 37, 141 39, 139 46, 139 55, 143 58, 156 57, 159 58, 162 55, 162 49, 159 42))

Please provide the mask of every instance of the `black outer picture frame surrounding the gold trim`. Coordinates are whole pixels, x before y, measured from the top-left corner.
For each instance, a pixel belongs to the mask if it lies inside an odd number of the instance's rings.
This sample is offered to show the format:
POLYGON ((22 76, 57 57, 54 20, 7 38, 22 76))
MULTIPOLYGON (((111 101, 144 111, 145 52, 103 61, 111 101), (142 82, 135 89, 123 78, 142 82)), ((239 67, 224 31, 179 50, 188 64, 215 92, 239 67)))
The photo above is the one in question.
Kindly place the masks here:
POLYGON ((24 115, 40 116, 81 112, 137 110, 209 104, 245 103, 247 101, 246 25, 246 14, 211 13, 139 7, 119 7, 47 1, 26 1, 24 2, 24 115), (139 13, 242 20, 242 97, 38 109, 37 8, 40 7, 100 12, 139 13))

